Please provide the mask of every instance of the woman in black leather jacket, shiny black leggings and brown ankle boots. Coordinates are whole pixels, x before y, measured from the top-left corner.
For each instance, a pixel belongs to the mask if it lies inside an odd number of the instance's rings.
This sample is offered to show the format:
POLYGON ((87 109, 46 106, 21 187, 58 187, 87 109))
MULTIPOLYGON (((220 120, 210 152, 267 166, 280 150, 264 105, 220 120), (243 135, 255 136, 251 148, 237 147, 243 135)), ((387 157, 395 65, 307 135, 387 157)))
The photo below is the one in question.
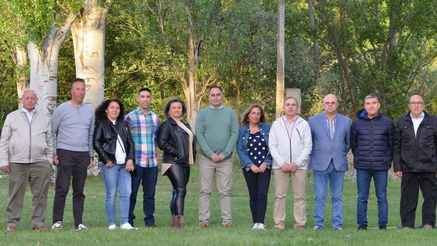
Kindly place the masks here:
POLYGON ((173 186, 170 198, 171 228, 186 228, 184 218, 184 200, 190 177, 190 165, 196 157, 194 133, 182 116, 187 112, 184 101, 169 99, 164 106, 167 118, 158 132, 158 147, 162 154, 162 174, 166 175, 173 186))

